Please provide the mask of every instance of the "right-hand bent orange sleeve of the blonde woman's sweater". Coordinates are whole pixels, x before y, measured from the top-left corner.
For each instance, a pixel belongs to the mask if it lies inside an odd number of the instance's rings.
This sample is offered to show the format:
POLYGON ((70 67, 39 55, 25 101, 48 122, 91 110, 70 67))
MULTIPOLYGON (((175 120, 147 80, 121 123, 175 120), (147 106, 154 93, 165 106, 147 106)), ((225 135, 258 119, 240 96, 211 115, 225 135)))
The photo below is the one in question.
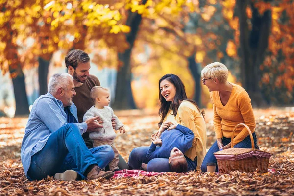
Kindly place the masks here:
MULTIPOLYGON (((251 99, 247 92, 241 93, 237 100, 238 108, 243 117, 244 123, 249 127, 251 133, 255 131, 255 117, 251 105, 251 99)), ((249 135, 248 130, 244 127, 241 132, 234 138, 234 145, 243 141, 249 135)))

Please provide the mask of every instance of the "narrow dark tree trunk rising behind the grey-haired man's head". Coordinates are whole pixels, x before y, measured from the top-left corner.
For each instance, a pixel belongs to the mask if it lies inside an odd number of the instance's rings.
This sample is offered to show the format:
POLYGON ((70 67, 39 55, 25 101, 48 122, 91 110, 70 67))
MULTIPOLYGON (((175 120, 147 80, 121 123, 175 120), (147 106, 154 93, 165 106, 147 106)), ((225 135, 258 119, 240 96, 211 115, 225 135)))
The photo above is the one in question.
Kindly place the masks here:
POLYGON ((48 79, 50 60, 47 61, 47 60, 43 59, 42 57, 39 57, 38 61, 39 61, 39 68, 38 68, 39 95, 44 95, 48 92, 47 79, 48 79))

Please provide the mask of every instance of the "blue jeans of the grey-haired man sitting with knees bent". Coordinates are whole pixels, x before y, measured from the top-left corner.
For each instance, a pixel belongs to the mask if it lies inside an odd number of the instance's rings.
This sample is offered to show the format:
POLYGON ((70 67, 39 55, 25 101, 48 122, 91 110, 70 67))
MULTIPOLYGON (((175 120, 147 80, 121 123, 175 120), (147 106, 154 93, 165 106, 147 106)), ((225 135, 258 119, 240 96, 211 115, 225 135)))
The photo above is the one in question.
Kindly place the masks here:
POLYGON ((54 176, 57 172, 75 170, 81 176, 93 164, 104 168, 114 158, 109 145, 91 148, 86 144, 75 123, 68 123, 53 132, 43 149, 31 157, 31 165, 27 172, 29 180, 41 180, 46 176, 54 176))

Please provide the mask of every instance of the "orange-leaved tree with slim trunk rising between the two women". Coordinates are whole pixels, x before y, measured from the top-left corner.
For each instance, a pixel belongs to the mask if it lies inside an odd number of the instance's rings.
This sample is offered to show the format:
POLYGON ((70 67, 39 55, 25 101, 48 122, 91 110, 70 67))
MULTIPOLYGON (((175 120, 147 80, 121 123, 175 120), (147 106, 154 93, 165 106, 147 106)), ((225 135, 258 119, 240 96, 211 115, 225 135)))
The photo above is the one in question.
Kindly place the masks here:
MULTIPOLYGON (((229 67, 234 65, 234 58, 227 54, 227 52, 232 54, 232 49, 227 50, 227 45, 230 45, 230 40, 234 38, 234 31, 228 30, 230 29, 228 23, 222 20, 222 7, 222 4, 216 1, 202 3, 190 1, 183 4, 177 12, 179 14, 165 7, 166 12, 153 13, 152 16, 143 19, 138 37, 139 40, 152 44, 152 49, 161 47, 166 52, 172 53, 171 55, 183 58, 179 67, 190 70, 194 78, 193 97, 198 104, 201 104, 202 66, 216 60, 227 62, 229 67)), ((158 60, 165 56, 161 54, 153 58, 158 60)), ((172 57, 167 55, 167 58, 172 57)), ((208 97, 204 100, 205 104, 206 99, 208 97)))

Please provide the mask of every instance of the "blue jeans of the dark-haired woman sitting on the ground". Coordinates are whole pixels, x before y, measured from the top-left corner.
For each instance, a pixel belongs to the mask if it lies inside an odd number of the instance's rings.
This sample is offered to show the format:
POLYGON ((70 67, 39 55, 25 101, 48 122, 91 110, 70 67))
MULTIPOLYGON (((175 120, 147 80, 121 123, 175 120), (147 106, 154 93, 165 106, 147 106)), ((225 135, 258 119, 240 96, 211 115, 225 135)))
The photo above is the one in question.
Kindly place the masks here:
MULTIPOLYGON (((159 147, 156 147, 159 148, 159 147)), ((136 147, 134 148, 129 156, 128 165, 131 169, 140 169, 142 163, 147 164, 148 172, 171 172, 169 159, 168 158, 155 158, 148 161, 146 154, 149 147, 136 147)), ((197 166, 197 157, 192 161, 185 156, 188 163, 188 170, 195 170, 197 166)))

